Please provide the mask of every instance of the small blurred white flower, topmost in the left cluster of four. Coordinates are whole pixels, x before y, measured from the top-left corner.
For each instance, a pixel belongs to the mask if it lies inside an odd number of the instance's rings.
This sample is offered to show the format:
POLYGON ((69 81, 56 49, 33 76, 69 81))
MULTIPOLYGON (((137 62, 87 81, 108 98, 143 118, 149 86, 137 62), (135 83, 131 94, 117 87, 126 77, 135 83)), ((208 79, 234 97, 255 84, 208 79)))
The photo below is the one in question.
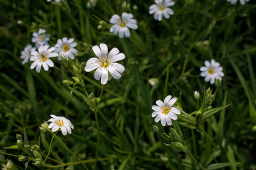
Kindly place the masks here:
POLYGON ((33 32, 32 42, 35 42, 35 47, 38 48, 41 45, 49 45, 48 40, 50 40, 49 34, 44 34, 45 29, 39 29, 38 33, 33 32))

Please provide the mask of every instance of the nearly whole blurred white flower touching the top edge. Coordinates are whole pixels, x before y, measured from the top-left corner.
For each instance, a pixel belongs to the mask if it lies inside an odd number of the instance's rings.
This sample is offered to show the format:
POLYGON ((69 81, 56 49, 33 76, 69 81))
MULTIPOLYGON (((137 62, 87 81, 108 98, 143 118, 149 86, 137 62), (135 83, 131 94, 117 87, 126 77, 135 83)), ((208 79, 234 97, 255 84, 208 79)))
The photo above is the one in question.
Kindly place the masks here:
POLYGON ((174 11, 168 6, 173 6, 175 2, 173 0, 154 0, 156 4, 149 6, 149 14, 154 13, 155 20, 162 20, 162 16, 168 19, 174 11))

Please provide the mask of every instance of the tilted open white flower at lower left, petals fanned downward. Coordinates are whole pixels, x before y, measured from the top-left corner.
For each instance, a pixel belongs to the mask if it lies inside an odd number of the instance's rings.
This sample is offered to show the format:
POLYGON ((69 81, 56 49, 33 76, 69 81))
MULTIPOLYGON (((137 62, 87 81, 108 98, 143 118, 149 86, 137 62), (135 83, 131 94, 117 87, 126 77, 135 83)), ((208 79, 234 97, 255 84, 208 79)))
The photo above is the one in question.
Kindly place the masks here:
POLYGON ((48 120, 51 121, 51 123, 48 125, 48 128, 51 128, 51 131, 54 132, 60 128, 63 135, 66 135, 67 132, 69 134, 71 133, 71 128, 74 128, 74 126, 70 120, 63 116, 55 116, 54 114, 50 114, 50 116, 53 117, 48 120))

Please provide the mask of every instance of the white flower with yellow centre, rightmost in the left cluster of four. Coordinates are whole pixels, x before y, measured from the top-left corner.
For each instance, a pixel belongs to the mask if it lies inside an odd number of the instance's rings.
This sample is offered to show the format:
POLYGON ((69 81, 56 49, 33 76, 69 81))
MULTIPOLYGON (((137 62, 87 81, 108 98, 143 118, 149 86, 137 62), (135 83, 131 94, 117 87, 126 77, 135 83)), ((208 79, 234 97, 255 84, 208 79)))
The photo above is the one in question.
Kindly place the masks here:
POLYGON ((74 59, 74 54, 77 53, 77 49, 74 47, 77 45, 77 42, 73 42, 74 38, 63 37, 62 40, 58 39, 57 43, 55 44, 55 51, 58 53, 58 60, 61 60, 61 54, 63 54, 66 59, 68 60, 68 57, 70 59, 74 59))

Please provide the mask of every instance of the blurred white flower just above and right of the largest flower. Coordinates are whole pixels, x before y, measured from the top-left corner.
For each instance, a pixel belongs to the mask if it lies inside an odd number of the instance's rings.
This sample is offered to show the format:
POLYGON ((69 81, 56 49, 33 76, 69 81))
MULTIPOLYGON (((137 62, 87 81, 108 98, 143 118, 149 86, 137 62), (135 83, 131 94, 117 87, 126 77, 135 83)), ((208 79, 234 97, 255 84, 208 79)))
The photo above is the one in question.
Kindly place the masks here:
POLYGON ((122 19, 119 15, 114 14, 109 20, 110 23, 114 24, 110 27, 110 32, 113 32, 115 35, 119 33, 120 38, 123 38, 124 36, 130 37, 130 31, 128 27, 131 29, 138 28, 137 21, 132 19, 132 17, 133 15, 131 13, 126 12, 122 12, 122 19))

